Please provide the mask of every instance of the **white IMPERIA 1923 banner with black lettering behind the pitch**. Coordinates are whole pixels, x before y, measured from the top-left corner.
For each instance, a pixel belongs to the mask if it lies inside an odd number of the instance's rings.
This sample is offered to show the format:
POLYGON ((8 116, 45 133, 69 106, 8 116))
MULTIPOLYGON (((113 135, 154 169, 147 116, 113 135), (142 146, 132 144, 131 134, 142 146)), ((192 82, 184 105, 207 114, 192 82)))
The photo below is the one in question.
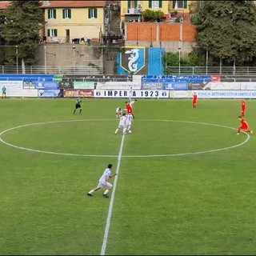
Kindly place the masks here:
MULTIPOLYGON (((94 90, 94 98, 129 98, 129 90, 94 90)), ((132 98, 169 98, 169 91, 134 90, 132 98)))

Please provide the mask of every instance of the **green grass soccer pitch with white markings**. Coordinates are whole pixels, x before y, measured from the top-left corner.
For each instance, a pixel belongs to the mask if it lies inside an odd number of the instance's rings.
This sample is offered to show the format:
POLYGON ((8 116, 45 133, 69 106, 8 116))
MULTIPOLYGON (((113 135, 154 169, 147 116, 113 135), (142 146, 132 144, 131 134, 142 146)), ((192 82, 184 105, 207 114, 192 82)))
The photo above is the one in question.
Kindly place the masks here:
MULTIPOLYGON (((256 134, 240 100, 0 100, 0 254, 254 255, 256 134), (88 197, 112 163, 110 198, 88 197)), ((256 132, 256 102, 246 101, 256 132)))

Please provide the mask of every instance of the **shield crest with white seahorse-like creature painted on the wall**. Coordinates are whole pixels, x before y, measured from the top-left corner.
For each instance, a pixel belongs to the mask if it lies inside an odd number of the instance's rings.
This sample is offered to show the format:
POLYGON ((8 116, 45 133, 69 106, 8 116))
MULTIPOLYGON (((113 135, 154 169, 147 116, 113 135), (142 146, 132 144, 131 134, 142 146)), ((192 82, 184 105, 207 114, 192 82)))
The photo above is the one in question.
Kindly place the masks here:
POLYGON ((145 47, 125 46, 120 53, 121 65, 130 74, 136 74, 145 66, 145 47))

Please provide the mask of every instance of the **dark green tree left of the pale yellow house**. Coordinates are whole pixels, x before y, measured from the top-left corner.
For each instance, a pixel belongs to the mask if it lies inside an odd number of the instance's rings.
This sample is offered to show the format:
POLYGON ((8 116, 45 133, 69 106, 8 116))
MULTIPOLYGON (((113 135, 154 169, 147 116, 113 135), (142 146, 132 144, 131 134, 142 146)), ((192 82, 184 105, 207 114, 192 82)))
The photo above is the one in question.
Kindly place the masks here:
MULTIPOLYGON (((0 22, 0 38, 6 46, 18 46, 18 58, 21 59, 22 73, 25 66, 35 63, 38 48, 39 31, 45 24, 40 1, 12 1, 4 10, 5 22, 0 22)), ((4 47, 10 48, 10 47, 4 47)), ((14 65, 17 52, 6 50, 5 62, 14 65), (9 52, 9 53, 8 53, 9 52)))

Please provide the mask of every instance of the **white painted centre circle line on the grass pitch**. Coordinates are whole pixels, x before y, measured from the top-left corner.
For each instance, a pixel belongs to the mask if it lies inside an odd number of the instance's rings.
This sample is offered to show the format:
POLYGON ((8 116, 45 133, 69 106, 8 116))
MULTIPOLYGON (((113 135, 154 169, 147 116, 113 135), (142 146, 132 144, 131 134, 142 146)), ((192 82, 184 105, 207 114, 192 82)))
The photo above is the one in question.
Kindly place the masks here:
MULTIPOLYGON (((116 119, 79 119, 79 120, 66 120, 66 121, 50 121, 50 122, 35 122, 35 123, 30 123, 22 126, 16 126, 12 127, 7 130, 3 130, 0 133, 0 142, 6 144, 7 146, 12 146, 15 148, 18 148, 19 150, 28 150, 32 152, 38 152, 38 153, 44 153, 44 154, 58 154, 58 155, 69 155, 69 156, 77 156, 77 157, 98 157, 98 158, 118 158, 117 155, 106 155, 106 154, 71 154, 71 153, 59 153, 59 152, 52 152, 52 151, 44 151, 44 150, 33 150, 30 148, 22 147, 22 146, 16 146, 14 144, 10 144, 8 142, 5 142, 2 139, 2 134, 5 134, 6 132, 10 130, 15 130, 18 128, 26 127, 26 126, 38 126, 38 125, 45 125, 45 124, 50 124, 50 123, 59 123, 59 122, 85 122, 85 121, 113 121, 116 119)), ((137 119, 136 119, 137 120, 137 119)), ((230 127, 230 126, 220 126, 217 124, 212 124, 212 123, 206 123, 206 122, 192 122, 192 121, 182 121, 182 120, 161 120, 161 119, 138 119, 139 121, 150 121, 150 122, 185 122, 185 123, 192 123, 192 124, 200 124, 200 125, 205 125, 205 126, 218 126, 222 128, 228 128, 232 130, 237 130, 237 128, 230 127)), ((245 132, 242 131, 242 133, 246 134, 245 132)), ((205 150, 205 151, 197 151, 197 152, 187 152, 187 153, 178 153, 178 154, 144 154, 144 155, 122 155, 122 158, 158 158, 158 157, 174 157, 174 156, 184 156, 184 155, 194 155, 194 154, 206 154, 206 153, 213 153, 213 152, 218 152, 221 150, 230 150, 238 146, 242 146, 246 142, 249 141, 250 135, 246 134, 246 140, 236 144, 234 146, 226 146, 220 149, 216 150, 205 150)))

